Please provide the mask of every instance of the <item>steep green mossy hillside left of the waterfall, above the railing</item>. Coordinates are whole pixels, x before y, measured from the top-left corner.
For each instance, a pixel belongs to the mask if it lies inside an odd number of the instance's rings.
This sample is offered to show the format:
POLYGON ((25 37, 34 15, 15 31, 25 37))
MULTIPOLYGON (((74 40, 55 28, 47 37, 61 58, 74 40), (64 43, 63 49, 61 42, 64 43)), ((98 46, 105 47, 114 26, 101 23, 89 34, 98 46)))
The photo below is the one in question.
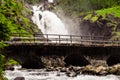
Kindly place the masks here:
POLYGON ((0 40, 8 40, 12 33, 31 34, 37 31, 30 20, 32 13, 23 0, 0 0, 0 4, 0 40))

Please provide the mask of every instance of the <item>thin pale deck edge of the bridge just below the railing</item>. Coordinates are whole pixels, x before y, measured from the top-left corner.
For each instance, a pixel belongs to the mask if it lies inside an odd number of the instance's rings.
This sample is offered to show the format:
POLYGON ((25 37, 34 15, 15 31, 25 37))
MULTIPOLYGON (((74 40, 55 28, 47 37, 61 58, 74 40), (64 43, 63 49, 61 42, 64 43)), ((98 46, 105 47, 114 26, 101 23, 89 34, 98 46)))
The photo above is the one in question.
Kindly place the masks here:
POLYGON ((96 43, 34 43, 34 42, 5 42, 7 44, 10 45, 49 45, 49 46, 88 46, 88 47, 92 47, 92 46, 102 46, 102 47, 107 47, 107 46, 120 46, 120 44, 96 44, 96 43))

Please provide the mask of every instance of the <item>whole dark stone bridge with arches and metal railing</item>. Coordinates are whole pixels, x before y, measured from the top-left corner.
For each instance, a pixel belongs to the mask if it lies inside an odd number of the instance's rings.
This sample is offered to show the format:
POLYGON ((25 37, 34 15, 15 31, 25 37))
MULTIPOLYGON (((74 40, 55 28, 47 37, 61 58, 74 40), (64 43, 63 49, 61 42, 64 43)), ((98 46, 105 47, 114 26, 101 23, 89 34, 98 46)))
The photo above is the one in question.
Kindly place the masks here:
POLYGON ((5 48, 5 55, 20 62, 24 68, 120 63, 120 41, 105 37, 39 34, 12 37, 6 43, 9 46, 5 48))

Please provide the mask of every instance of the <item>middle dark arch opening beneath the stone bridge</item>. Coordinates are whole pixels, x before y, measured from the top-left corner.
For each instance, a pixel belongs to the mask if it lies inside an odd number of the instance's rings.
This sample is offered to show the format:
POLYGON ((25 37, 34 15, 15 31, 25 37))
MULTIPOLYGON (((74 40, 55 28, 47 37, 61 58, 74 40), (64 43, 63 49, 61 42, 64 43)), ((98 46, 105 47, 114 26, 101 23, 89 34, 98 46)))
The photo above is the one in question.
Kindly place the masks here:
POLYGON ((68 55, 64 61, 65 61, 65 66, 69 66, 69 65, 86 66, 90 64, 90 62, 87 59, 85 59, 85 57, 82 56, 81 54, 68 55))

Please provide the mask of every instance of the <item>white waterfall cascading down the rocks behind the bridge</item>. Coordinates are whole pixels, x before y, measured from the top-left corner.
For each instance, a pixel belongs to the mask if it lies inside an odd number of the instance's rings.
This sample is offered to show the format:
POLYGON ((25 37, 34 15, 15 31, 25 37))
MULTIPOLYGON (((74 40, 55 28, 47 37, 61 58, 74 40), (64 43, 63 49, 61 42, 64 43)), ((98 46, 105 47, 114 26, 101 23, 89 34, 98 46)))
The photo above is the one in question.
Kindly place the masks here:
POLYGON ((51 11, 41 11, 41 7, 33 6, 32 20, 42 33, 68 35, 68 31, 60 18, 51 11), (40 16, 42 16, 41 19, 39 18, 40 16))

